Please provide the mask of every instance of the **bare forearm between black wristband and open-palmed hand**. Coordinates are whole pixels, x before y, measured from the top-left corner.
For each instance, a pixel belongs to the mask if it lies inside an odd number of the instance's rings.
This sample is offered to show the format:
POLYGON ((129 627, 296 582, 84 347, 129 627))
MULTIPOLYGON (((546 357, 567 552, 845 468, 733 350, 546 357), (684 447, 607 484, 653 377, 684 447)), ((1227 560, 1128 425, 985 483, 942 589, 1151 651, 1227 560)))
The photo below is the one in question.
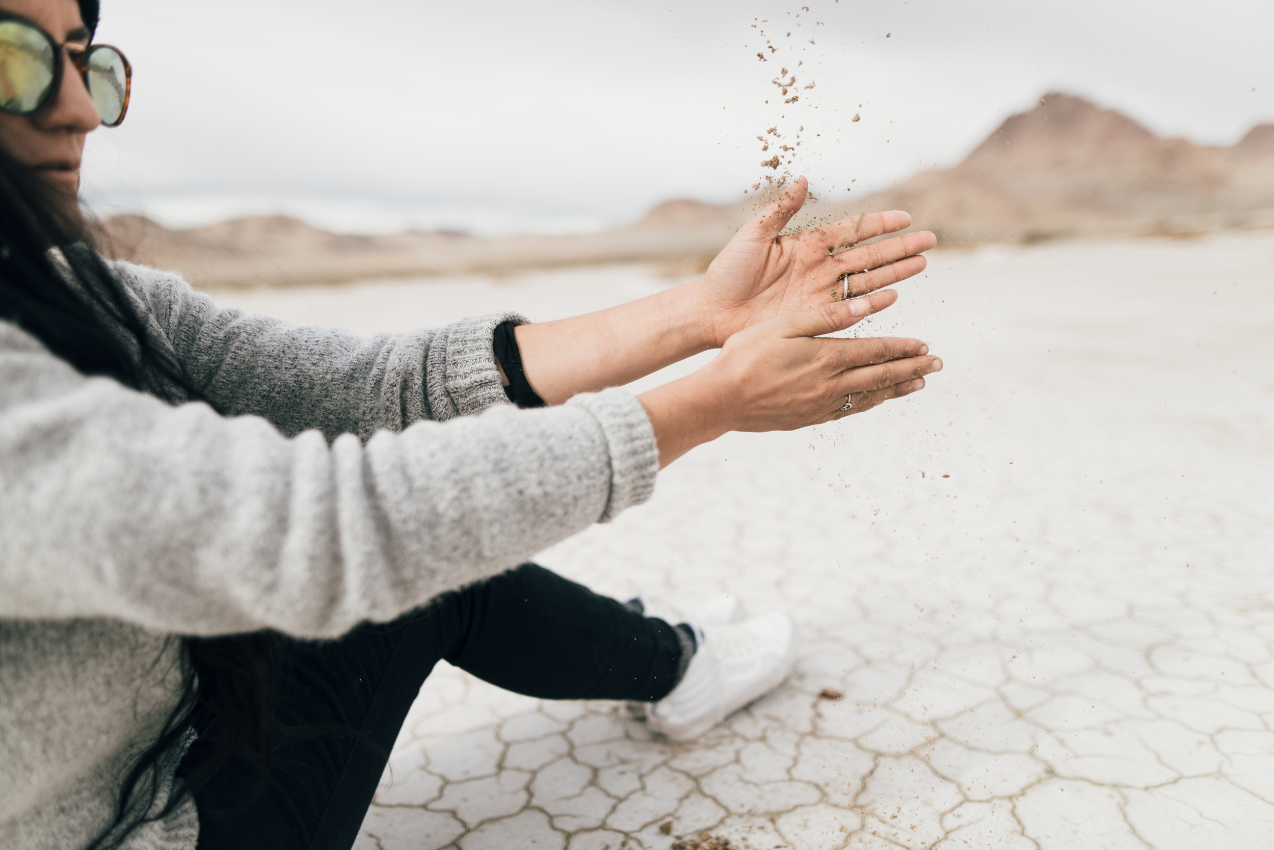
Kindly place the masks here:
MULTIPOLYGON (((698 282, 513 333, 531 389, 549 404, 636 381, 712 348, 698 282)), ((662 452, 661 452, 662 454, 662 452)))

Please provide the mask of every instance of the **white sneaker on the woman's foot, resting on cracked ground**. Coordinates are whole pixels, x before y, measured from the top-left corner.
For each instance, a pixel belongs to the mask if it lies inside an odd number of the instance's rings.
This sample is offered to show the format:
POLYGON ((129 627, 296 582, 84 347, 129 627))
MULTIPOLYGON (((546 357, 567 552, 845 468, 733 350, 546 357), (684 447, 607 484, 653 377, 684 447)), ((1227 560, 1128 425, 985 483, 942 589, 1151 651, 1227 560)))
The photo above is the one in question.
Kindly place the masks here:
POLYGON ((646 723, 673 740, 692 740, 777 688, 795 665, 796 624, 786 613, 716 626, 673 692, 646 706, 646 723))

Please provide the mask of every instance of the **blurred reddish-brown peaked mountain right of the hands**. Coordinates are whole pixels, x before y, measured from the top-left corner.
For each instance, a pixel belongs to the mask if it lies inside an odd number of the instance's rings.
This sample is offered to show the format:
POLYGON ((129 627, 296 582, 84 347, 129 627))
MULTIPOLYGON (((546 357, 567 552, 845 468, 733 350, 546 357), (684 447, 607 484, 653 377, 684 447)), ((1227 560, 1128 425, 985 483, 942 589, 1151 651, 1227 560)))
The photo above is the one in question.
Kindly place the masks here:
POLYGON ((940 243, 1157 236, 1274 226, 1274 125, 1232 148, 1162 139, 1083 98, 1051 93, 954 168, 869 195, 940 243))

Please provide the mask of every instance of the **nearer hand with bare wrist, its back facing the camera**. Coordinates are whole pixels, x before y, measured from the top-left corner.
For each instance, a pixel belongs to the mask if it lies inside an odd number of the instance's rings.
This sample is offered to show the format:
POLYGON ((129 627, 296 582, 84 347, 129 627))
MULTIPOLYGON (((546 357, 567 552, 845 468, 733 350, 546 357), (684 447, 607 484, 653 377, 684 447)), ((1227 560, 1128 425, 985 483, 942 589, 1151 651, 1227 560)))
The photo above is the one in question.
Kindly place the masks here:
POLYGON ((766 320, 730 336, 698 372, 640 395, 660 466, 727 431, 792 431, 924 389, 943 363, 919 339, 820 338, 897 297, 889 289, 766 320))

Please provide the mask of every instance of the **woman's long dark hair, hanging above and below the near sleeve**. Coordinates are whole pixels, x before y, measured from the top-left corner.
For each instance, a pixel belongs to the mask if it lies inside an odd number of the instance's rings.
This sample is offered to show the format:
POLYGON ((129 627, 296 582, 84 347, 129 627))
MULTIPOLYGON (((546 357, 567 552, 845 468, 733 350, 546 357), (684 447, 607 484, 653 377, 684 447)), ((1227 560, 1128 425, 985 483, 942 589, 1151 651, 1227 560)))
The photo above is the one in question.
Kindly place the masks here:
MULTIPOLYGON (((97 0, 79 0, 79 5, 85 25, 94 29, 97 0)), ((181 363, 152 343, 122 284, 94 250, 90 224, 73 199, 0 144, 0 319, 17 324, 84 375, 112 377, 141 391, 152 391, 148 375, 161 375, 186 399, 206 401, 181 363), (52 249, 60 250, 62 269, 55 265, 52 249)), ((279 723, 285 673, 279 635, 173 640, 181 641, 182 692, 158 739, 132 762, 115 823, 93 846, 117 845, 127 832, 118 835, 116 827, 130 812, 147 813, 150 805, 139 795, 149 790, 149 799, 154 799, 158 775, 150 774, 149 789, 141 780, 189 729, 204 730, 215 720, 218 734, 200 763, 183 771, 157 817, 205 786, 232 758, 260 765, 259 788, 264 786, 271 753, 283 740, 296 738, 296 730, 279 723)))

